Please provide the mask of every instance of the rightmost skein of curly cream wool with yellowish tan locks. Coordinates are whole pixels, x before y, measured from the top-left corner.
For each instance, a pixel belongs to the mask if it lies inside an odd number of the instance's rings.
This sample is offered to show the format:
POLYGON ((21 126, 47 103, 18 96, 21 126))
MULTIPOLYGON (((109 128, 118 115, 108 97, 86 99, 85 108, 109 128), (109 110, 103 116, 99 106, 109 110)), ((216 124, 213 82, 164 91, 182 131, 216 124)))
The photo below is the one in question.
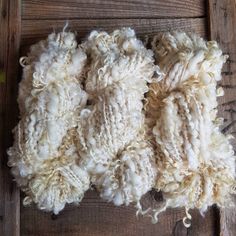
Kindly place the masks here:
POLYGON ((216 98, 223 95, 216 86, 227 57, 216 42, 183 32, 156 36, 152 48, 163 77, 150 85, 145 108, 163 210, 185 207, 190 219, 190 208, 204 213, 215 203, 230 206, 235 156, 216 118, 216 98))

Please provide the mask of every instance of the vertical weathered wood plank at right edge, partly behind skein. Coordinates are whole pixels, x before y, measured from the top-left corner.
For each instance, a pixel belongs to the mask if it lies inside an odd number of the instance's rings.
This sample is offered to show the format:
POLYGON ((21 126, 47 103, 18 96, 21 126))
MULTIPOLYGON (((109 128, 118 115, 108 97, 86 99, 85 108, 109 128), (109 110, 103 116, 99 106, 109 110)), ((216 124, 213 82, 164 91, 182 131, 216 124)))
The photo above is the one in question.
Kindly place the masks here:
MULTIPOLYGON (((229 55, 224 67, 222 85, 225 96, 220 99, 220 115, 225 118, 225 133, 236 134, 236 2, 235 0, 209 0, 210 38, 217 40, 229 55)), ((236 150, 236 141, 233 142, 236 150)), ((236 203, 236 200, 235 200, 236 203)), ((220 210, 221 234, 236 234, 236 208, 220 210)))

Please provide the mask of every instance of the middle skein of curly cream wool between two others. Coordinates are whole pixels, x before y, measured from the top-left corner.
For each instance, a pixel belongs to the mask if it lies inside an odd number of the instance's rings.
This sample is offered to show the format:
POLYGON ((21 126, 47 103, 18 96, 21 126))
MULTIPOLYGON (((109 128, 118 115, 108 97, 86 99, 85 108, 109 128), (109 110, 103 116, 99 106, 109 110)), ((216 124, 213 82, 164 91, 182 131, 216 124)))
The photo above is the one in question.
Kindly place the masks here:
POLYGON ((133 30, 93 31, 85 81, 90 106, 81 112, 78 150, 100 196, 115 205, 137 203, 156 176, 145 140, 143 103, 154 72, 153 53, 133 30))

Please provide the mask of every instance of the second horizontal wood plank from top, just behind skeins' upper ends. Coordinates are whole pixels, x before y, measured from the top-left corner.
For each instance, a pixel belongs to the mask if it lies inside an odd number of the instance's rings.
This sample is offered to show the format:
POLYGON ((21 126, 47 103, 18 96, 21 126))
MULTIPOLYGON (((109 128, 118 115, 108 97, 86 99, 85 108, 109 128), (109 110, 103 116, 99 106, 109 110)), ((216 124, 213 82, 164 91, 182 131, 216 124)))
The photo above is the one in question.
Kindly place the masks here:
MULTIPOLYGON (((32 44, 47 37, 53 30, 60 31, 65 25, 65 20, 23 20, 22 45, 32 44)), ((120 27, 132 27, 139 36, 149 35, 168 30, 186 30, 206 36, 206 19, 99 19, 70 20, 69 29, 77 31, 79 38, 85 37, 91 30, 112 31, 120 27)))

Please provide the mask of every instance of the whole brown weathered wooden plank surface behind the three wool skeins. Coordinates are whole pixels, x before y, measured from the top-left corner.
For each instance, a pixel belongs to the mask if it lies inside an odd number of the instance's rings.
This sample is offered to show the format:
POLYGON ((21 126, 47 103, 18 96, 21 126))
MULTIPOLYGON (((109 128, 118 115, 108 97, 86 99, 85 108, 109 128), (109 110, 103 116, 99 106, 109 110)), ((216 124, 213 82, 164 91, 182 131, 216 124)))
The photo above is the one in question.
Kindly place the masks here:
MULTIPOLYGON (((182 29, 217 40, 230 55, 221 82, 225 96, 219 100, 219 113, 225 118, 222 129, 235 135, 235 0, 0 0, 0 19, 0 236, 236 235, 235 210, 211 207, 204 218, 192 211, 192 226, 186 229, 182 224, 184 210, 169 209, 158 224, 152 225, 150 218, 137 219, 133 207, 114 207, 92 191, 79 207, 68 206, 58 216, 25 208, 6 165, 11 129, 18 119, 18 58, 25 55, 30 44, 61 30, 66 20, 80 38, 95 28, 111 31, 130 26, 141 38, 182 29)), ((152 192, 145 201, 161 200, 152 192)))

